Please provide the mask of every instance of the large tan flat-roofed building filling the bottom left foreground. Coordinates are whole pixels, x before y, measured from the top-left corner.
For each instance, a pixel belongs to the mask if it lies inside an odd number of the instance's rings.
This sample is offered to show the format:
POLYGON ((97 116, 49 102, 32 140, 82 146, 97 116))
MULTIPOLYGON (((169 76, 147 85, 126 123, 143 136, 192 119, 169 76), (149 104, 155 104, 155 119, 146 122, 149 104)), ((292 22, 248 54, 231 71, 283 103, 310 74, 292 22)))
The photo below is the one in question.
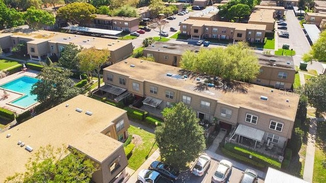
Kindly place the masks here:
POLYGON ((24 166, 36 151, 48 144, 73 148, 91 159, 99 170, 92 180, 96 183, 119 182, 128 164, 123 149, 129 120, 126 111, 84 95, 76 96, 56 107, 0 133, 3 158, 0 181, 26 171, 24 166), (6 135, 10 137, 6 138, 6 135), (22 141, 25 146, 17 145, 22 141), (29 146, 31 148, 26 149, 29 146))

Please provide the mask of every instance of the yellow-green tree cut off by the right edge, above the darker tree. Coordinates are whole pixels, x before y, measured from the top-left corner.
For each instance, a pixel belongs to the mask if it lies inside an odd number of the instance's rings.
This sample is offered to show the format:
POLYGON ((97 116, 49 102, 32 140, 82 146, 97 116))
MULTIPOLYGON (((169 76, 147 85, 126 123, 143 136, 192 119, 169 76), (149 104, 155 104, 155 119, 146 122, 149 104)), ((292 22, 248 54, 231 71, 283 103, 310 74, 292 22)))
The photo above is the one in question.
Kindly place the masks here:
POLYGON ((305 62, 311 62, 313 59, 319 62, 326 62, 326 31, 319 34, 319 39, 311 47, 308 53, 305 53, 303 60, 305 62))

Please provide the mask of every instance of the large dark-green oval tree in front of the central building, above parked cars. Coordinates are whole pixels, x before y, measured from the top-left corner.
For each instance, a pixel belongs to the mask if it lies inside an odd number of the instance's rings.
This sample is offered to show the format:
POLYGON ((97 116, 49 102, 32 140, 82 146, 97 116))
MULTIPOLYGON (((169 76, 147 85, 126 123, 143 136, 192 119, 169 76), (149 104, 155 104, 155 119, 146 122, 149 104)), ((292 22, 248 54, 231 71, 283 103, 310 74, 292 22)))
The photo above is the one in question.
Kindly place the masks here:
POLYGON ((155 129, 161 159, 176 168, 194 161, 206 147, 196 112, 180 102, 162 111, 164 123, 155 129))

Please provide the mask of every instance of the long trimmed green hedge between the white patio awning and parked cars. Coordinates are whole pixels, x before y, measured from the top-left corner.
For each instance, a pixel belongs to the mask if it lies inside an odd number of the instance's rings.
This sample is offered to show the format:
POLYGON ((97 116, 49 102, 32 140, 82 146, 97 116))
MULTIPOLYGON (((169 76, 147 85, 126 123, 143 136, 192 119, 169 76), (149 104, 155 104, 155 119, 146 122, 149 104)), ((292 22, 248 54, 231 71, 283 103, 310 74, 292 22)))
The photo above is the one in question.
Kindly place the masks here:
POLYGON ((267 157, 265 155, 255 152, 255 151, 249 150, 247 148, 239 147, 239 146, 231 144, 231 143, 225 144, 224 147, 226 149, 232 151, 233 153, 236 153, 243 157, 249 158, 249 156, 251 155, 252 160, 256 161, 259 164, 264 165, 264 167, 270 166, 270 167, 275 167, 275 168, 281 168, 281 163, 278 160, 267 157))

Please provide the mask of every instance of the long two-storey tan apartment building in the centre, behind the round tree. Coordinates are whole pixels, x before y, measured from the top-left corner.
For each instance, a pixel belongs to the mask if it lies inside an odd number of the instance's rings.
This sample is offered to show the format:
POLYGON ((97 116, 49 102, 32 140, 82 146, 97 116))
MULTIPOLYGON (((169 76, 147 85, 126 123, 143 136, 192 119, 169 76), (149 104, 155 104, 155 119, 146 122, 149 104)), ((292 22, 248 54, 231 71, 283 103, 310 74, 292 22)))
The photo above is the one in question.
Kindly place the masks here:
POLYGON ((184 102, 201 120, 216 122, 231 132, 239 124, 257 129, 262 133, 259 141, 269 139, 279 148, 291 138, 299 100, 296 94, 248 83, 239 83, 233 90, 227 89, 229 86, 201 90, 198 83, 205 79, 190 78, 181 74, 180 68, 138 58, 127 58, 103 71, 106 85, 126 89, 155 110, 184 102))

